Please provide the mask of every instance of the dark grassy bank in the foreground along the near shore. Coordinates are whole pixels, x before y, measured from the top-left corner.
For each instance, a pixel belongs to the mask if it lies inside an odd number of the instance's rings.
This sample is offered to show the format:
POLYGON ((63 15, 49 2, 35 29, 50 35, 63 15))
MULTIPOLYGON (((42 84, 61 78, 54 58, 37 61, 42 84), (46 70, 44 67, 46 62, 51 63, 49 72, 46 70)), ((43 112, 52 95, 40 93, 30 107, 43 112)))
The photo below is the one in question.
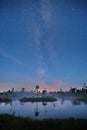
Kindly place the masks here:
POLYGON ((32 120, 30 118, 15 117, 13 115, 0 115, 0 130, 86 130, 85 119, 44 119, 32 120))

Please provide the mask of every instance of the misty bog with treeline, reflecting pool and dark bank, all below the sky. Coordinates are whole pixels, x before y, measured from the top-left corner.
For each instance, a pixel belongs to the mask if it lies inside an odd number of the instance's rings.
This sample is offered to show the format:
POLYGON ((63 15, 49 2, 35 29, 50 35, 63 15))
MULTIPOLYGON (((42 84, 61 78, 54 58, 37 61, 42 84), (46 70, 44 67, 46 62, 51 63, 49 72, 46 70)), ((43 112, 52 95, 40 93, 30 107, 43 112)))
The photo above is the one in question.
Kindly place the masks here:
POLYGON ((47 92, 45 89, 40 92, 38 85, 35 86, 35 90, 27 92, 25 88, 22 88, 21 91, 15 91, 12 88, 12 90, 0 93, 0 119, 4 120, 1 121, 1 128, 5 128, 7 125, 8 129, 10 129, 10 127, 17 125, 18 127, 14 126, 13 129, 22 129, 22 127, 26 129, 31 127, 31 130, 43 129, 42 126, 45 123, 46 129, 52 129, 49 126, 49 123, 52 123, 53 129, 63 129, 63 127, 65 127, 64 129, 72 129, 72 124, 62 126, 63 123, 71 122, 77 123, 74 124, 75 129, 80 129, 80 126, 82 128, 87 126, 86 84, 80 90, 71 88, 66 92, 63 92, 63 90, 47 92), (8 120, 8 123, 6 120, 8 120), (12 126, 10 122, 12 122, 12 126), (18 122, 23 122, 21 127, 18 122))

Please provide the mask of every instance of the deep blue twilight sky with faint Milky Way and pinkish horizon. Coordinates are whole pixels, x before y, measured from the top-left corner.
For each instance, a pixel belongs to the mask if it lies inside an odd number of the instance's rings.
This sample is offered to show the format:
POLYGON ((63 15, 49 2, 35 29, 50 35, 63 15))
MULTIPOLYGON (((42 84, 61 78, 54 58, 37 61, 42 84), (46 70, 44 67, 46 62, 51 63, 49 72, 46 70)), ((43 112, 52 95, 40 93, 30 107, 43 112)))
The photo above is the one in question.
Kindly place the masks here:
POLYGON ((86 0, 0 0, 0 91, 86 82, 86 0))

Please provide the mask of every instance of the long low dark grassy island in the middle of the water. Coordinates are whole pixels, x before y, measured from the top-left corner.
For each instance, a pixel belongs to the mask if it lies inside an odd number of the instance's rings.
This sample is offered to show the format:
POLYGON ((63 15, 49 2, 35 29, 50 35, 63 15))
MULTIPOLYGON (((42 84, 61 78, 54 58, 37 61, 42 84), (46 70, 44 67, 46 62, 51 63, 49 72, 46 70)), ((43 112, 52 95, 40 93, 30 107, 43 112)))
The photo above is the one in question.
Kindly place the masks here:
POLYGON ((21 98, 20 99, 21 102, 53 102, 53 101, 57 101, 56 98, 54 97, 37 97, 37 98, 21 98))

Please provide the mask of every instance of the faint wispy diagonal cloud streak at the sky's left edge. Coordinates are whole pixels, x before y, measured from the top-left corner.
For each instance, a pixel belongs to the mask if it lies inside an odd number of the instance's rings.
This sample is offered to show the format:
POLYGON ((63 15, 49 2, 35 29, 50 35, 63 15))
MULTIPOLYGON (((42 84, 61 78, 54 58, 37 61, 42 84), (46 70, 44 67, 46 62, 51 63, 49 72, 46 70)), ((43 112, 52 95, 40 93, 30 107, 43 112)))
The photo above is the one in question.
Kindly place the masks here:
POLYGON ((19 61, 16 57, 8 54, 4 49, 0 48, 0 55, 7 58, 7 59, 10 59, 11 61, 14 61, 16 62, 17 64, 22 64, 21 61, 19 61))

